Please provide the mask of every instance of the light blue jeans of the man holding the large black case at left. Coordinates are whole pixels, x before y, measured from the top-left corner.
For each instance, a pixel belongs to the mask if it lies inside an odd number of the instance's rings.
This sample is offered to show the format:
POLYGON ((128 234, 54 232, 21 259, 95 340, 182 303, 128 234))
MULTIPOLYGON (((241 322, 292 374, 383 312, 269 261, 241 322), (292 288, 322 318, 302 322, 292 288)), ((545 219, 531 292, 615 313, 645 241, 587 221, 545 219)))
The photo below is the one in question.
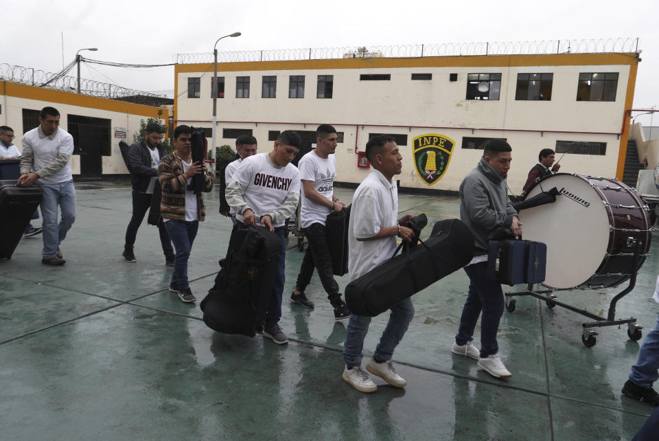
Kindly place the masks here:
POLYGON ((76 188, 73 180, 56 184, 39 184, 43 197, 41 199, 41 217, 43 222, 43 250, 41 255, 48 259, 55 257, 57 247, 67 237, 67 231, 76 220, 76 188), (60 222, 57 222, 58 206, 62 210, 60 222))

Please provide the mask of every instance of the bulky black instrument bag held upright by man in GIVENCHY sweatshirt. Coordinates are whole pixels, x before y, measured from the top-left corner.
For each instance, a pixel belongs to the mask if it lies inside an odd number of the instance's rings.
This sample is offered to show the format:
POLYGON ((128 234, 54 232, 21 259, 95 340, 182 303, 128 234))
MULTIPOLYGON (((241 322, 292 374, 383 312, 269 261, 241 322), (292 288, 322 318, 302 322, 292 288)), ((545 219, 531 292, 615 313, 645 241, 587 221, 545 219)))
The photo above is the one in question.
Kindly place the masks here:
POLYGON ((200 304, 204 323, 224 334, 254 337, 266 317, 280 254, 281 242, 267 228, 234 229, 227 258, 200 304))

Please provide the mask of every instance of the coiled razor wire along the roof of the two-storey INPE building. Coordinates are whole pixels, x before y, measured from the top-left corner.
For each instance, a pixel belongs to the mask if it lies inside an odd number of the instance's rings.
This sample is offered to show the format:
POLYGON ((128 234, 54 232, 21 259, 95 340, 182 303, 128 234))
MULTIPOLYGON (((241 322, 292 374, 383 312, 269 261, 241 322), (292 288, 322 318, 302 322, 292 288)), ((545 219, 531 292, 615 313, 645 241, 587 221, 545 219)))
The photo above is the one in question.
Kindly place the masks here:
MULTIPOLYGON (((333 58, 415 58, 424 56, 538 55, 631 53, 638 50, 638 38, 591 40, 543 40, 516 42, 441 43, 432 45, 372 45, 364 47, 321 47, 268 49, 262 51, 218 52, 218 62, 325 60, 333 58)), ((178 64, 213 63, 213 54, 176 54, 178 64)))

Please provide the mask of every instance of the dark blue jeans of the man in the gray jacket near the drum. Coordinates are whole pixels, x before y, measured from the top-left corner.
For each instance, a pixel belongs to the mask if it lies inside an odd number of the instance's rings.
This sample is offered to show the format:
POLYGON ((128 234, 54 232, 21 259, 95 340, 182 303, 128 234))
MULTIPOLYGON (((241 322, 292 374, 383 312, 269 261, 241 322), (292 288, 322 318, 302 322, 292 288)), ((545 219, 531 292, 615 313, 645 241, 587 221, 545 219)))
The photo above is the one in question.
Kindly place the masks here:
POLYGON ((487 262, 480 262, 465 267, 469 276, 469 293, 462 308, 460 327, 455 341, 459 345, 472 340, 478 316, 481 319, 481 357, 487 357, 499 352, 496 342, 496 332, 503 314, 505 302, 501 285, 494 280, 494 275, 487 272, 487 262))

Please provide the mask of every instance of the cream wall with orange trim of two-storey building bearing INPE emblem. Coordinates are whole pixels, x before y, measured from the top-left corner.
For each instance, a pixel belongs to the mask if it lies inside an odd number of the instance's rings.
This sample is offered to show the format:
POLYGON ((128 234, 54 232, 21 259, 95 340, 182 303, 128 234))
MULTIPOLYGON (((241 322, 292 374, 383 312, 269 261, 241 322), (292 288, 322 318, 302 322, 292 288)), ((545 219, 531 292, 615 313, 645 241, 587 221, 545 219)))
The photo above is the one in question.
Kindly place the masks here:
MULTIPOLYGON (((603 155, 568 152, 561 171, 621 179, 629 133, 625 111, 632 109, 637 67, 636 53, 219 63, 224 97, 218 98, 216 145, 233 146, 235 139, 222 137, 224 129, 249 129, 259 150, 269 151, 271 131, 314 131, 319 124, 332 124, 343 132, 336 180, 360 183, 369 170, 358 167, 358 152, 365 150, 369 133, 406 135, 406 145, 400 146, 400 186, 456 191, 482 155, 482 150, 463 148, 465 138, 505 138, 513 148, 508 183, 518 194, 542 148, 556 150, 557 141, 605 143, 603 155), (577 100, 584 73, 618 74, 614 100, 577 100), (412 80, 413 74, 431 74, 431 79, 412 80), (466 99, 470 74, 500 74, 499 99, 466 99), (516 100, 518 74, 553 74, 551 100, 516 100), (328 75, 332 98, 317 98, 317 78, 328 75), (360 80, 362 75, 389 79, 360 80), (262 98, 264 76, 276 77, 275 98, 262 98), (304 76, 304 98, 289 98, 290 76, 304 76), (250 78, 249 98, 236 98, 238 77, 250 78), (413 139, 421 135, 454 142, 448 168, 432 185, 415 168, 413 139)), ((212 63, 179 64, 174 75, 175 124, 210 128, 212 63), (188 97, 188 78, 200 78, 198 98, 188 97)))

